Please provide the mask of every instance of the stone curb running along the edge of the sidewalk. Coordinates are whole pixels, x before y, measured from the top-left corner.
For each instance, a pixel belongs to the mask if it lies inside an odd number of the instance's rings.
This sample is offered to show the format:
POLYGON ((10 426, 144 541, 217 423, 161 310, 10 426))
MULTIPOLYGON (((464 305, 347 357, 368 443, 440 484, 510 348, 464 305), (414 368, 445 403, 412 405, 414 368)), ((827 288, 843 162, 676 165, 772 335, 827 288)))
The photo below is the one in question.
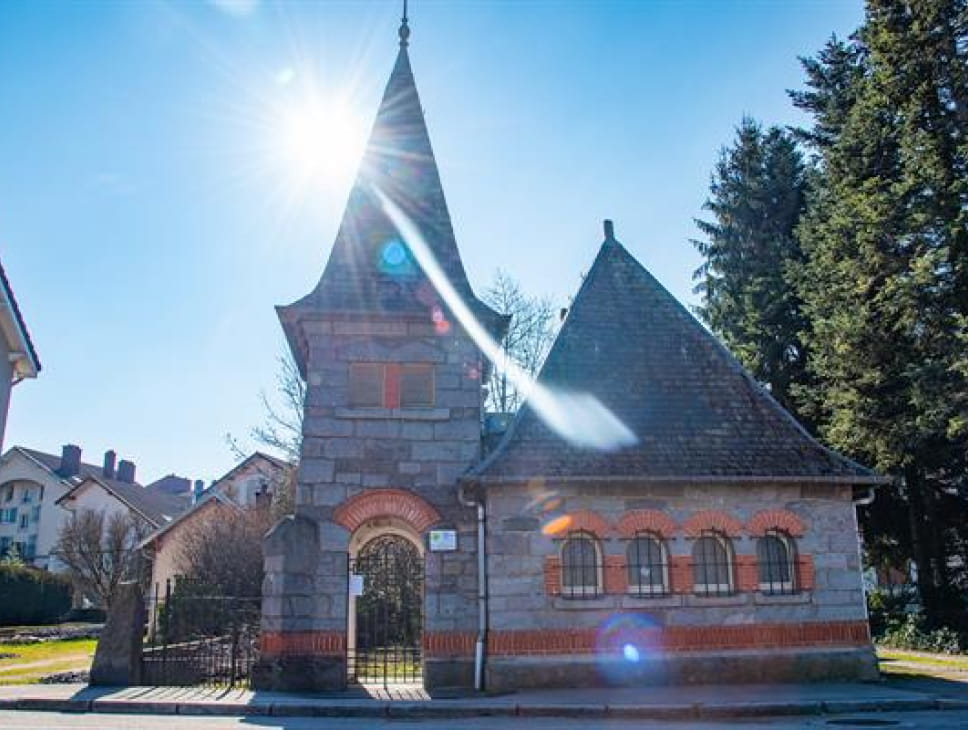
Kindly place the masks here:
POLYGON ((804 700, 682 705, 532 704, 484 705, 459 700, 373 702, 325 705, 299 702, 170 702, 123 699, 56 699, 26 697, 0 700, 0 710, 135 715, 207 715, 345 718, 570 717, 578 719, 695 720, 744 717, 840 715, 855 712, 968 710, 968 700, 891 698, 870 700, 804 700))

